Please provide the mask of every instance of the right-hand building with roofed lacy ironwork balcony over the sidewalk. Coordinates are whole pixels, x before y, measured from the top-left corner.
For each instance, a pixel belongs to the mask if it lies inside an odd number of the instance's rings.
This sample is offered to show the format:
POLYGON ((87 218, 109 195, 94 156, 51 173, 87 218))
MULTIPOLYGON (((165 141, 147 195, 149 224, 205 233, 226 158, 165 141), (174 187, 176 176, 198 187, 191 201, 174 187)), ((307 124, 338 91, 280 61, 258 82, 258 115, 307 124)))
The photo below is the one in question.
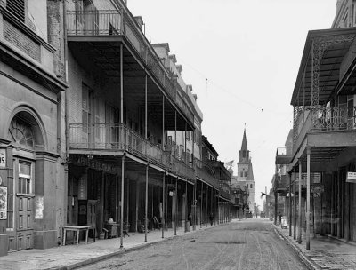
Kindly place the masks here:
POLYGON ((309 31, 291 99, 289 170, 305 175, 307 249, 313 233, 356 240, 354 21, 353 1, 337 1, 333 28, 309 31))

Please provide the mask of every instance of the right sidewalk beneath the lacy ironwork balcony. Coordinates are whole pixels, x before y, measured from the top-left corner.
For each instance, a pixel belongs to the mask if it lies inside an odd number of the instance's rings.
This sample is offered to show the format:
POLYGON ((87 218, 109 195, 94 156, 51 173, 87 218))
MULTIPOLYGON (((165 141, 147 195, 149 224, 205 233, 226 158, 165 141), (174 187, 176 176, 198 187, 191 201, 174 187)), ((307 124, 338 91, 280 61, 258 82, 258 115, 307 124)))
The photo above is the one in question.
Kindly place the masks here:
POLYGON ((356 269, 356 245, 329 236, 311 238, 311 250, 305 249, 305 239, 299 244, 289 236, 289 228, 274 226, 277 233, 284 238, 298 253, 309 269, 356 269))

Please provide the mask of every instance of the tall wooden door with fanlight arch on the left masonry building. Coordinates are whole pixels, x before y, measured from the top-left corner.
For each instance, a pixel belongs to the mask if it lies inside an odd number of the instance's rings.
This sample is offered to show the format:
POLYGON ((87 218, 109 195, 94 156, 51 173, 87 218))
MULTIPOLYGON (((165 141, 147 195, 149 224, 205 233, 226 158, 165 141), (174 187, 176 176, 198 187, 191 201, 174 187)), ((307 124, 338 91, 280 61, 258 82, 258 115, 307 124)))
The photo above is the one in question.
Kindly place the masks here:
POLYGON ((36 149, 44 148, 44 137, 36 117, 20 111, 9 124, 12 141, 12 177, 8 181, 8 250, 27 250, 34 246, 36 149))

